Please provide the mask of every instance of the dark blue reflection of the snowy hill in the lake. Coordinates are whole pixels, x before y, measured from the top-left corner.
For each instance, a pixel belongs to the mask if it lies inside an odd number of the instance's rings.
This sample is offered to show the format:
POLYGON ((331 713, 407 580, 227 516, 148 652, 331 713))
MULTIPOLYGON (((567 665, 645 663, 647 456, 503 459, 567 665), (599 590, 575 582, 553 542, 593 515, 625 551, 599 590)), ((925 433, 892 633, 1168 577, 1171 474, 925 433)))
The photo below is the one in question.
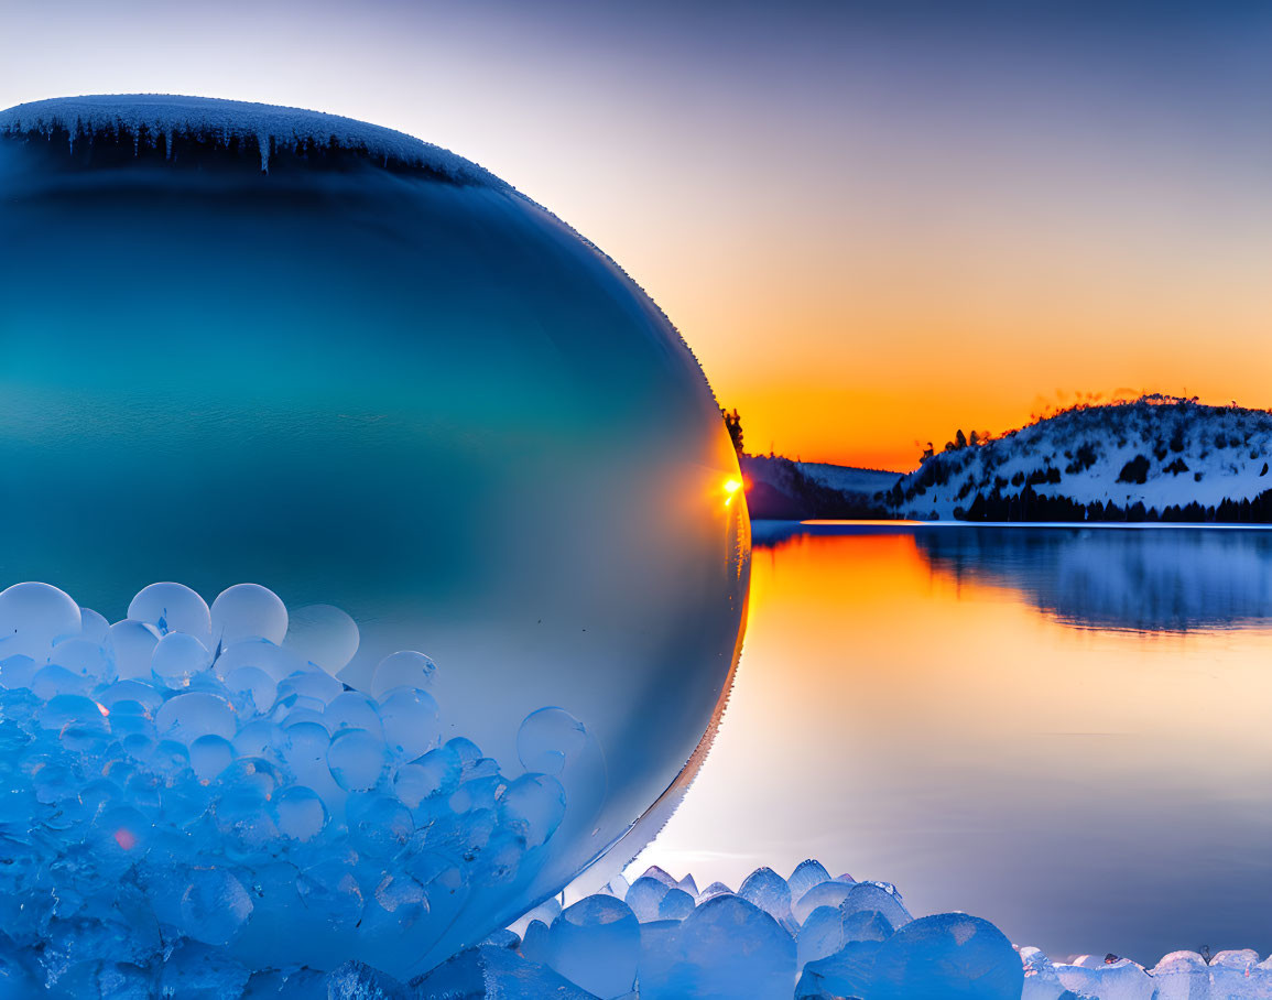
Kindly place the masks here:
POLYGON ((1272 532, 920 528, 934 569, 1019 590, 1079 627, 1187 631, 1272 618, 1272 532))

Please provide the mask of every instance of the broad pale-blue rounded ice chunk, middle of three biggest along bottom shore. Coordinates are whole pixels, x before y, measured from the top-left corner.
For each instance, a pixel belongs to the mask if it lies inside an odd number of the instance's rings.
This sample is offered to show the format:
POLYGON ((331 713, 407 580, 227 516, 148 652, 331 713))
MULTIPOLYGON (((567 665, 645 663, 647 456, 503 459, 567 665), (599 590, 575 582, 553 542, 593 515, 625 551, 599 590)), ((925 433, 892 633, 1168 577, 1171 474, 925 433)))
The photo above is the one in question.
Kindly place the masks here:
POLYGON ((674 961, 651 981, 641 978, 641 1000, 786 1000, 791 995, 795 941, 768 913, 739 896, 702 903, 684 919, 672 944, 674 961))

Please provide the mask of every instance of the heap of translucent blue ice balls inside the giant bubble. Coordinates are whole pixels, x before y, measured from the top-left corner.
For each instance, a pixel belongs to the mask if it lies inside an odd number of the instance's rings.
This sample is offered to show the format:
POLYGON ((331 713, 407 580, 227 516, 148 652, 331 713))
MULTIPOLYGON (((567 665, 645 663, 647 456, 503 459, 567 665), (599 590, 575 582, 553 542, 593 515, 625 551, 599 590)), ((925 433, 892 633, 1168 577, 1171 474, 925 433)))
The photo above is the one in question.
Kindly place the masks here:
POLYGON ((0 593, 0 996, 234 996, 351 959, 413 975, 538 873, 572 716, 532 714, 527 772, 505 776, 443 743, 427 656, 337 681, 359 631, 336 608, 289 616, 256 584, 209 608, 163 583, 128 616, 0 593))

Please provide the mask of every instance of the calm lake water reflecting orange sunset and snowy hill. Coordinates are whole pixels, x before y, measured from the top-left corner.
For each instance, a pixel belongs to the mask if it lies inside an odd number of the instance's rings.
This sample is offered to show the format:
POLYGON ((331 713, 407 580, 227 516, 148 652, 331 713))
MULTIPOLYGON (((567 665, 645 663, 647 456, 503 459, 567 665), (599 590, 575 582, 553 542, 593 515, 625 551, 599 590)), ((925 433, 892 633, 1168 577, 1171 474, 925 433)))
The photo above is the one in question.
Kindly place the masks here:
POLYGON ((719 738, 636 868, 815 856, 1057 959, 1272 950, 1272 532, 756 536, 719 738))

